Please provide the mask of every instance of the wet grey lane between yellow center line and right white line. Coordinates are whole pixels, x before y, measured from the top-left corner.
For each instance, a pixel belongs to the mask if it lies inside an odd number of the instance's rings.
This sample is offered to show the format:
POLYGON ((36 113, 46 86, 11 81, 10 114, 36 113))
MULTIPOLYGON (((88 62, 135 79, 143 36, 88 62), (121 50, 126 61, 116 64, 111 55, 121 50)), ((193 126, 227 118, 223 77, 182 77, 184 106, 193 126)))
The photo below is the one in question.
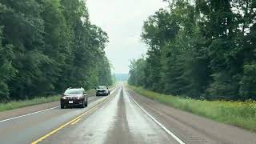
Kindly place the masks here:
POLYGON ((94 114, 42 143, 178 143, 135 105, 122 88, 94 114))

